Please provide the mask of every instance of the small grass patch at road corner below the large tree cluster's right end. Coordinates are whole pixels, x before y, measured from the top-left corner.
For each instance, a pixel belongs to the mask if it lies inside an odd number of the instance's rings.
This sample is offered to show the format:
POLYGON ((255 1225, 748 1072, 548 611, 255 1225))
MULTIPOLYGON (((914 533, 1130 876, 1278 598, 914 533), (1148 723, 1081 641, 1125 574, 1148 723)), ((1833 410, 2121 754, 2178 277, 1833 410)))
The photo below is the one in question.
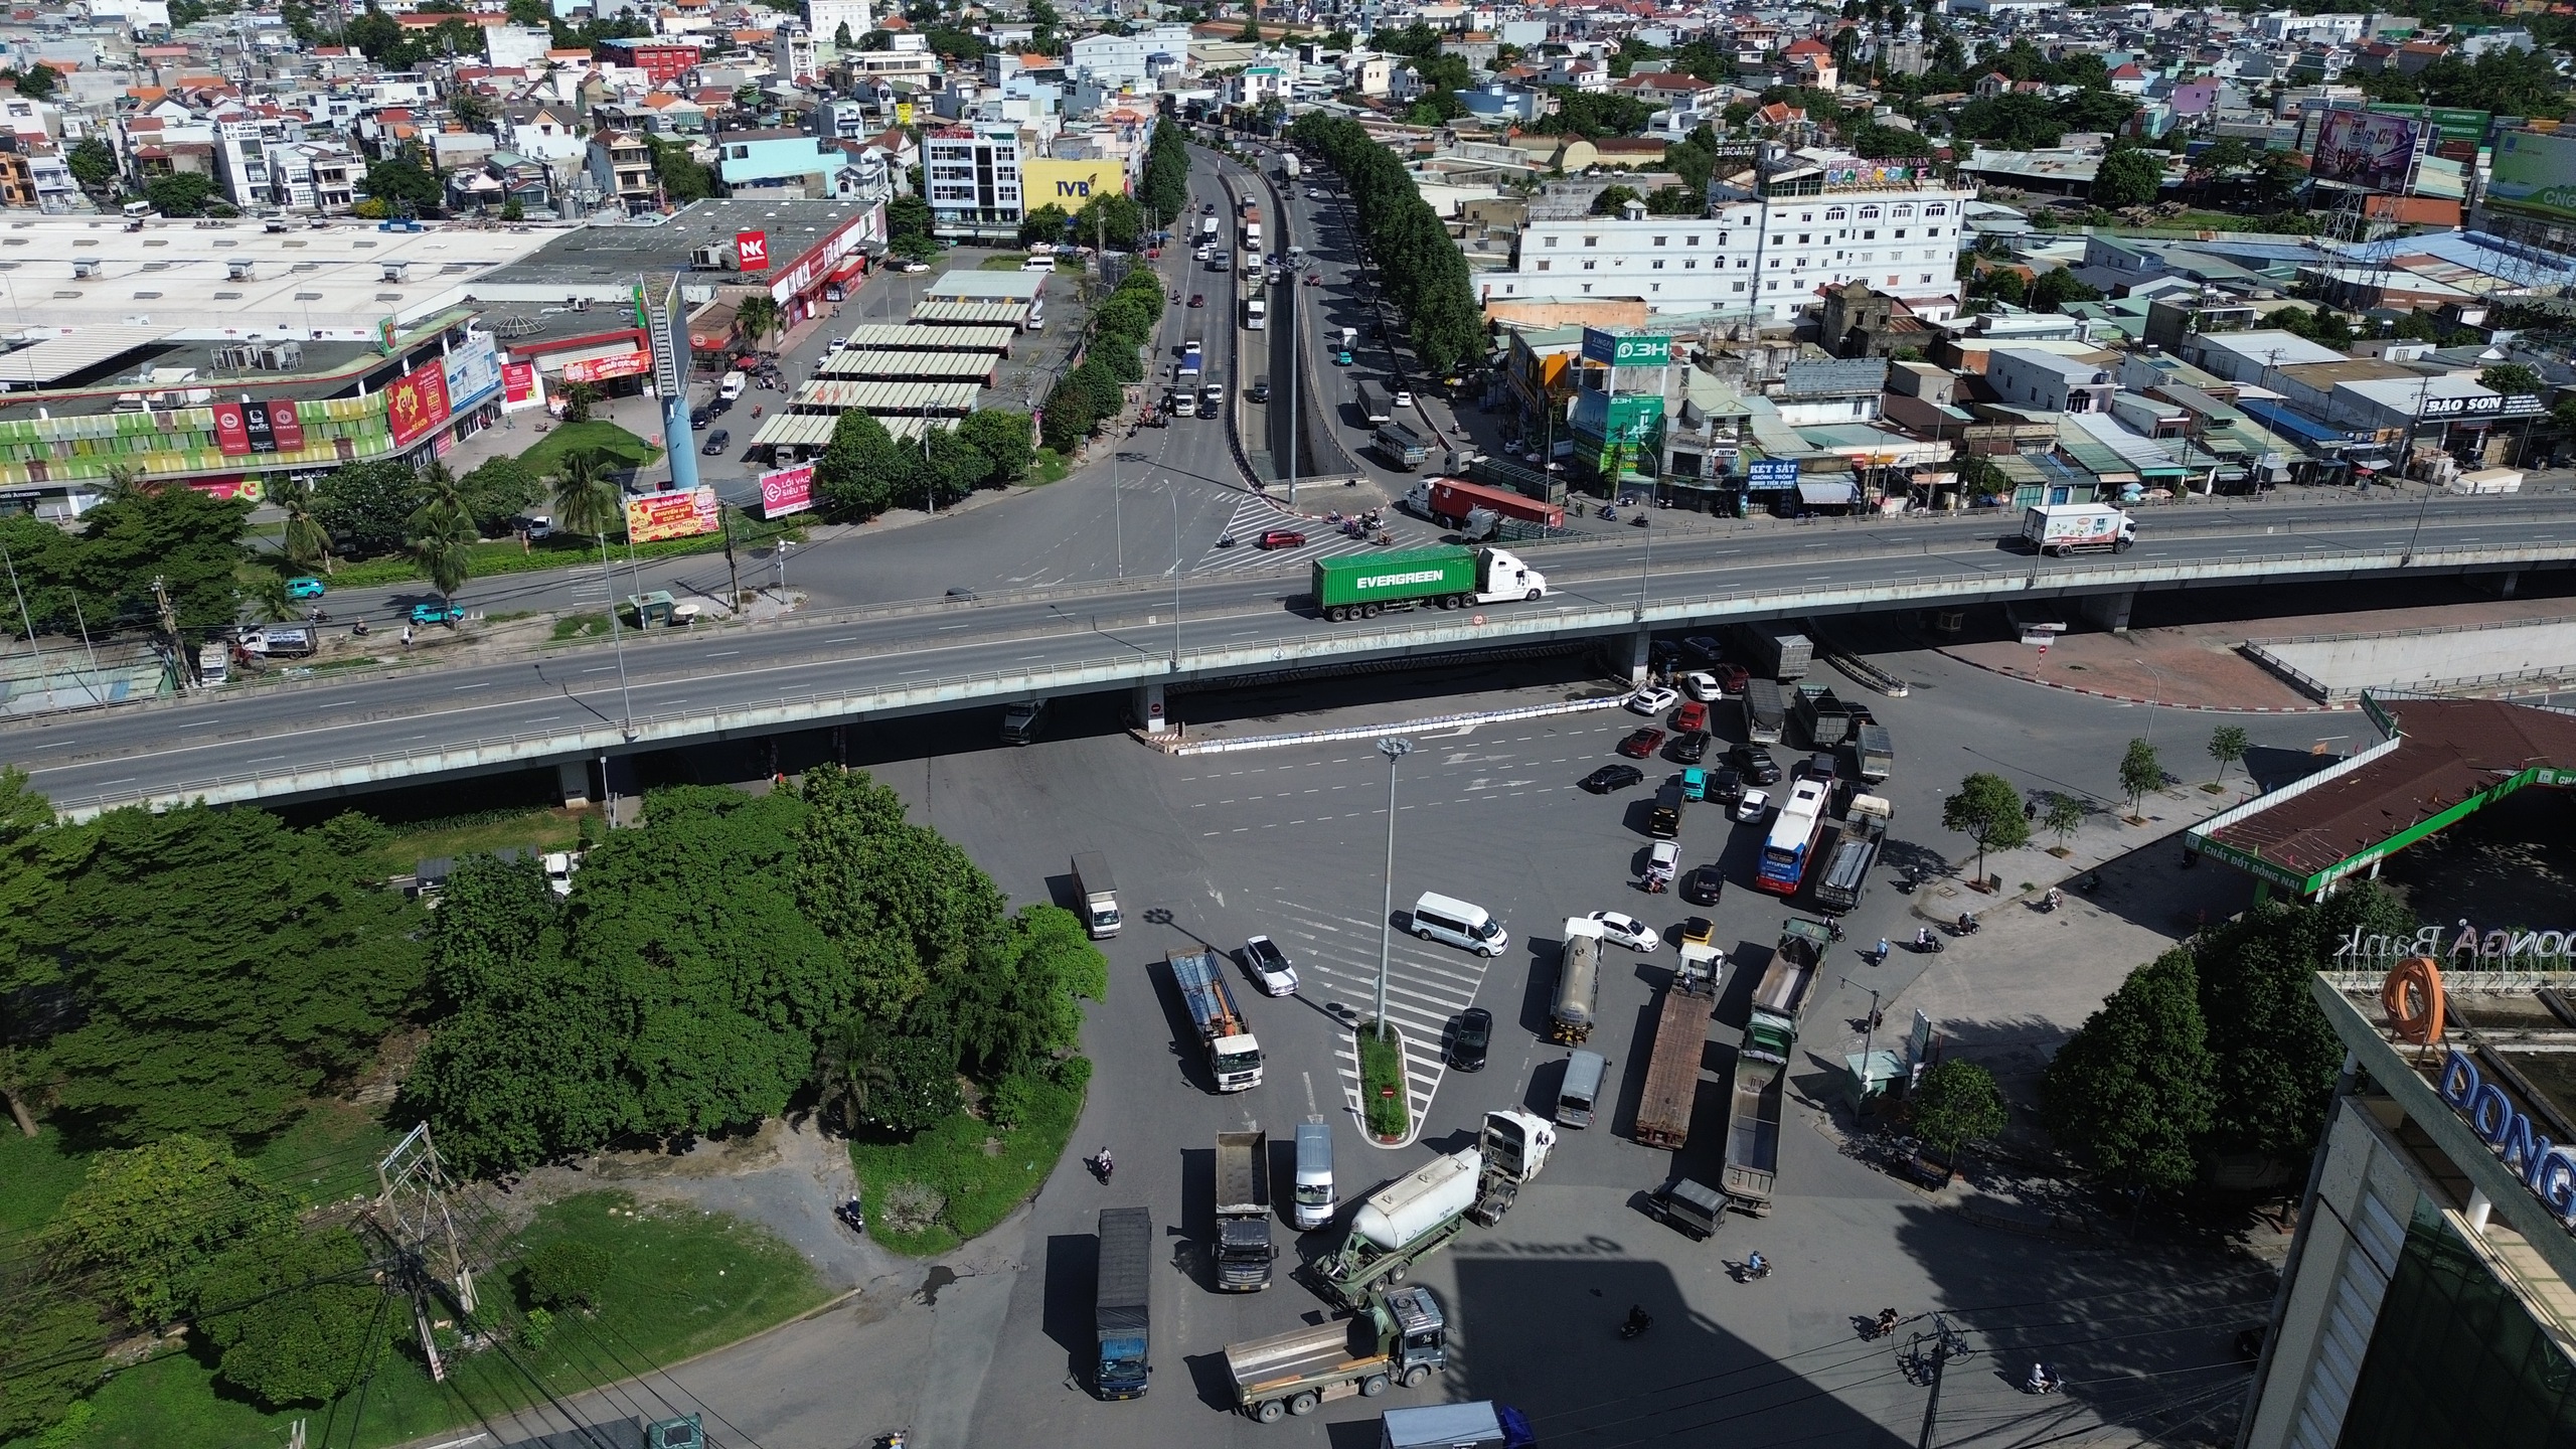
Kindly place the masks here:
POLYGON ((930 1258, 989 1232, 1056 1171, 1090 1078, 1087 1057, 1051 1078, 1005 1078, 987 1101, 1015 1116, 1010 1127, 956 1111, 909 1142, 850 1142, 868 1235, 930 1258))

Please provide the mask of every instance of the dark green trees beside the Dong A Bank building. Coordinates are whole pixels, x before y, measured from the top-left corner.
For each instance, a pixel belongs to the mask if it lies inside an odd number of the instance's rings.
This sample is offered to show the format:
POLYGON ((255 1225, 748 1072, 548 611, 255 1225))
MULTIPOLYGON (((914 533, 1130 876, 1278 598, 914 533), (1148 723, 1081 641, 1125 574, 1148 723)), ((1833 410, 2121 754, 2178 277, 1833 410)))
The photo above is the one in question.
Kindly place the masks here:
POLYGON ((2058 1052, 2040 1111, 2123 1189, 2177 1189, 2215 1158, 2306 1158, 2342 1042, 2308 995, 2352 931, 2414 933, 2383 887, 2259 905, 2138 967, 2058 1052))

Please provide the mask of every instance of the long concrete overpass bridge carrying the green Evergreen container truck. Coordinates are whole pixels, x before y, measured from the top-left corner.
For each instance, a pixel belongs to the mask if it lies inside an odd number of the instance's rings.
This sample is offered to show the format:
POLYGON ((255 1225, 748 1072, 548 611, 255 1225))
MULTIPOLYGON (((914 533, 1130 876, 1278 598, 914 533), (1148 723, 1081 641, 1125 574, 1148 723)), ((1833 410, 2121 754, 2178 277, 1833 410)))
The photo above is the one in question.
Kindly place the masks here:
POLYGON ((1553 588, 1540 603, 1352 624, 1301 608, 1303 570, 943 598, 52 714, 0 727, 0 758, 67 817, 276 804, 1033 696, 1123 688, 1149 717, 1175 683, 1360 660, 1631 639, 1641 665, 1654 629, 2043 598, 2125 627, 2141 590, 2434 575, 2512 588, 2576 562, 2576 498, 2177 505, 2141 523, 2133 552, 2076 559, 2009 547, 1994 516, 1664 544, 1636 531, 1533 552, 1553 588))

